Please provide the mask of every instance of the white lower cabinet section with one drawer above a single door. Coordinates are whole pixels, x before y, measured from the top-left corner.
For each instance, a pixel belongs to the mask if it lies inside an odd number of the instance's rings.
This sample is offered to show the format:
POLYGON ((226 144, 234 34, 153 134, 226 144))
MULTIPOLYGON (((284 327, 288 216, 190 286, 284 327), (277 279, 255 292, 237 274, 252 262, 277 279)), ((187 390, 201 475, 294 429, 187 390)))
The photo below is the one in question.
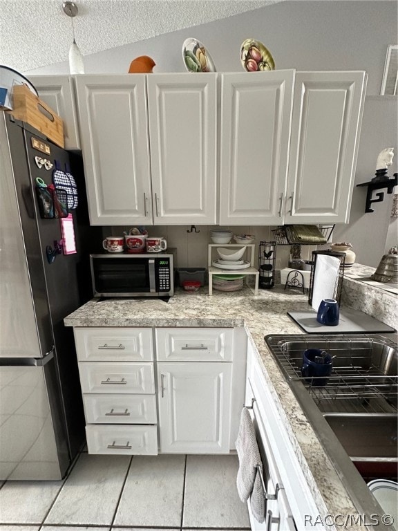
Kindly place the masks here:
POLYGON ((229 454, 245 398, 244 328, 156 328, 160 451, 229 454))

